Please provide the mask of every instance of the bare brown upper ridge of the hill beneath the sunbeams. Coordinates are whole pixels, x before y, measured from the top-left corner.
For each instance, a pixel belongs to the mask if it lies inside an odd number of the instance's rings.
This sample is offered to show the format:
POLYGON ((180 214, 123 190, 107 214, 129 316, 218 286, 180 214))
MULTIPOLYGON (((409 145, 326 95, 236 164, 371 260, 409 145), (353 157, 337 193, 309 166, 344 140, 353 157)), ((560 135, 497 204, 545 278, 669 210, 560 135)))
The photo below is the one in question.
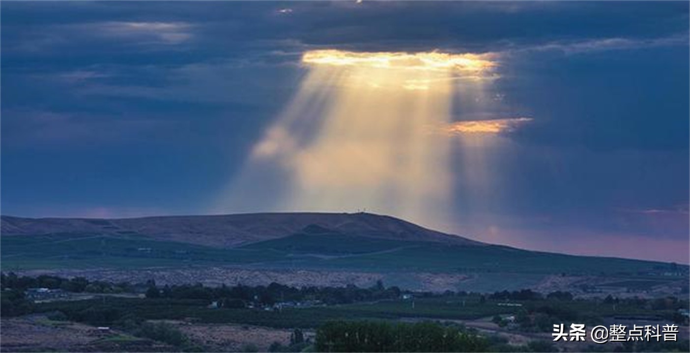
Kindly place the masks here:
POLYGON ((233 248, 300 233, 308 226, 358 237, 407 242, 484 245, 457 235, 417 226, 395 217, 371 213, 248 213, 95 218, 23 218, 2 216, 0 235, 91 234, 143 235, 150 239, 219 248, 233 248))

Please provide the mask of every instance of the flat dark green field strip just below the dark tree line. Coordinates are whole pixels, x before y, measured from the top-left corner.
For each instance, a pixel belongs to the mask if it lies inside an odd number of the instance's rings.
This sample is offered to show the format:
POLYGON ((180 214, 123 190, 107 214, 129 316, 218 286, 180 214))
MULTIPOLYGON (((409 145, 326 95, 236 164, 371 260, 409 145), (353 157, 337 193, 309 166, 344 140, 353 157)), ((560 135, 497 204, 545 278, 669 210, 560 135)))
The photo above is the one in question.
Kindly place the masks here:
MULTIPOLYGON (((108 298, 40 303, 39 312, 99 312, 97 317, 113 318, 112 312, 120 312, 124 317, 161 320, 191 320, 201 323, 239 323, 262 325, 273 328, 315 328, 331 320, 362 319, 444 319, 469 320, 492 317, 495 314, 516 314, 520 310, 532 311, 549 307, 564 317, 613 317, 615 315, 655 315, 669 316, 673 310, 652 310, 633 304, 607 304, 596 301, 512 301, 522 303, 522 307, 498 305, 499 301, 482 302, 480 296, 431 297, 395 299, 374 303, 353 303, 338 306, 318 306, 311 308, 284 308, 281 311, 260 309, 207 308, 207 301, 195 299, 124 299, 108 298), (414 302, 414 304, 413 304, 414 302), (104 314, 103 314, 104 313, 104 314)), ((96 325, 110 325, 103 321, 96 325)))

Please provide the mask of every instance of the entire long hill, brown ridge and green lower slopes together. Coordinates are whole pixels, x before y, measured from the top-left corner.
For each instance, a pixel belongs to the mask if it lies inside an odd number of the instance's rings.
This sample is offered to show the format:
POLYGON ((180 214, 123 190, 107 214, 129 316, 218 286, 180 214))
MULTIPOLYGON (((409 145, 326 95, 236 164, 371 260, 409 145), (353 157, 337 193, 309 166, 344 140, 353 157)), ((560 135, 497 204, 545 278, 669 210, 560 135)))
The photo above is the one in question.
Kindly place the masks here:
MULTIPOLYGON (((687 278, 687 266, 497 246, 369 213, 112 220, 3 216, 0 245, 1 269, 18 272, 119 270, 131 277, 132 271, 152 268, 307 270, 384 274, 400 284, 408 283, 410 274, 424 273, 432 274, 428 281, 441 278, 433 274, 450 275, 451 288, 468 289, 517 288, 549 276, 663 283, 687 278), (663 277, 669 272, 671 277, 663 277)), ((221 281, 227 273, 216 277, 221 281)))

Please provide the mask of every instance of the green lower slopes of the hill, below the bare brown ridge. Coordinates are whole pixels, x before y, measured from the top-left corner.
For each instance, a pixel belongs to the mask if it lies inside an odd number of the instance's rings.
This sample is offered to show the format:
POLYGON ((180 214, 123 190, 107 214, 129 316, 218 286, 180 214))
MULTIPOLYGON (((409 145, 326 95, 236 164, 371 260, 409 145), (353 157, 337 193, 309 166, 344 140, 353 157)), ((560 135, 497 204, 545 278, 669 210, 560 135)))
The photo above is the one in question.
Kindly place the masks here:
MULTIPOLYGON (((404 242, 371 236, 324 233, 323 230, 313 229, 231 249, 161 242, 136 234, 106 236, 86 233, 0 237, 0 245, 3 270, 151 266, 179 268, 191 265, 261 263, 266 268, 289 266, 368 272, 476 272, 487 275, 512 272, 526 276, 565 273, 647 278, 657 272, 687 272, 687 266, 653 261, 578 257, 506 246, 404 242)), ((505 279, 505 276, 502 278, 505 279)), ((655 280, 633 280, 629 281, 629 285, 647 288, 663 284, 667 280, 660 277, 651 279, 655 280)))

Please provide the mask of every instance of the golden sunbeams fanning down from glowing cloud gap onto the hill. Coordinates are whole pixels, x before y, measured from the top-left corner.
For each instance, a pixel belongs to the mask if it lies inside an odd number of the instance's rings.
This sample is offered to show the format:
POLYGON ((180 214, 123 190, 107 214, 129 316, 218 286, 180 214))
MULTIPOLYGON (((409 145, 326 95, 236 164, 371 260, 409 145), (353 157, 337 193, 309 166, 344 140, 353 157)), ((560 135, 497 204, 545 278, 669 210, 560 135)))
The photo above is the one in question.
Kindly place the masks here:
POLYGON ((302 63, 309 72, 299 92, 221 210, 366 209, 448 224, 452 132, 463 132, 451 121, 453 94, 491 78, 491 56, 317 50, 302 63))

